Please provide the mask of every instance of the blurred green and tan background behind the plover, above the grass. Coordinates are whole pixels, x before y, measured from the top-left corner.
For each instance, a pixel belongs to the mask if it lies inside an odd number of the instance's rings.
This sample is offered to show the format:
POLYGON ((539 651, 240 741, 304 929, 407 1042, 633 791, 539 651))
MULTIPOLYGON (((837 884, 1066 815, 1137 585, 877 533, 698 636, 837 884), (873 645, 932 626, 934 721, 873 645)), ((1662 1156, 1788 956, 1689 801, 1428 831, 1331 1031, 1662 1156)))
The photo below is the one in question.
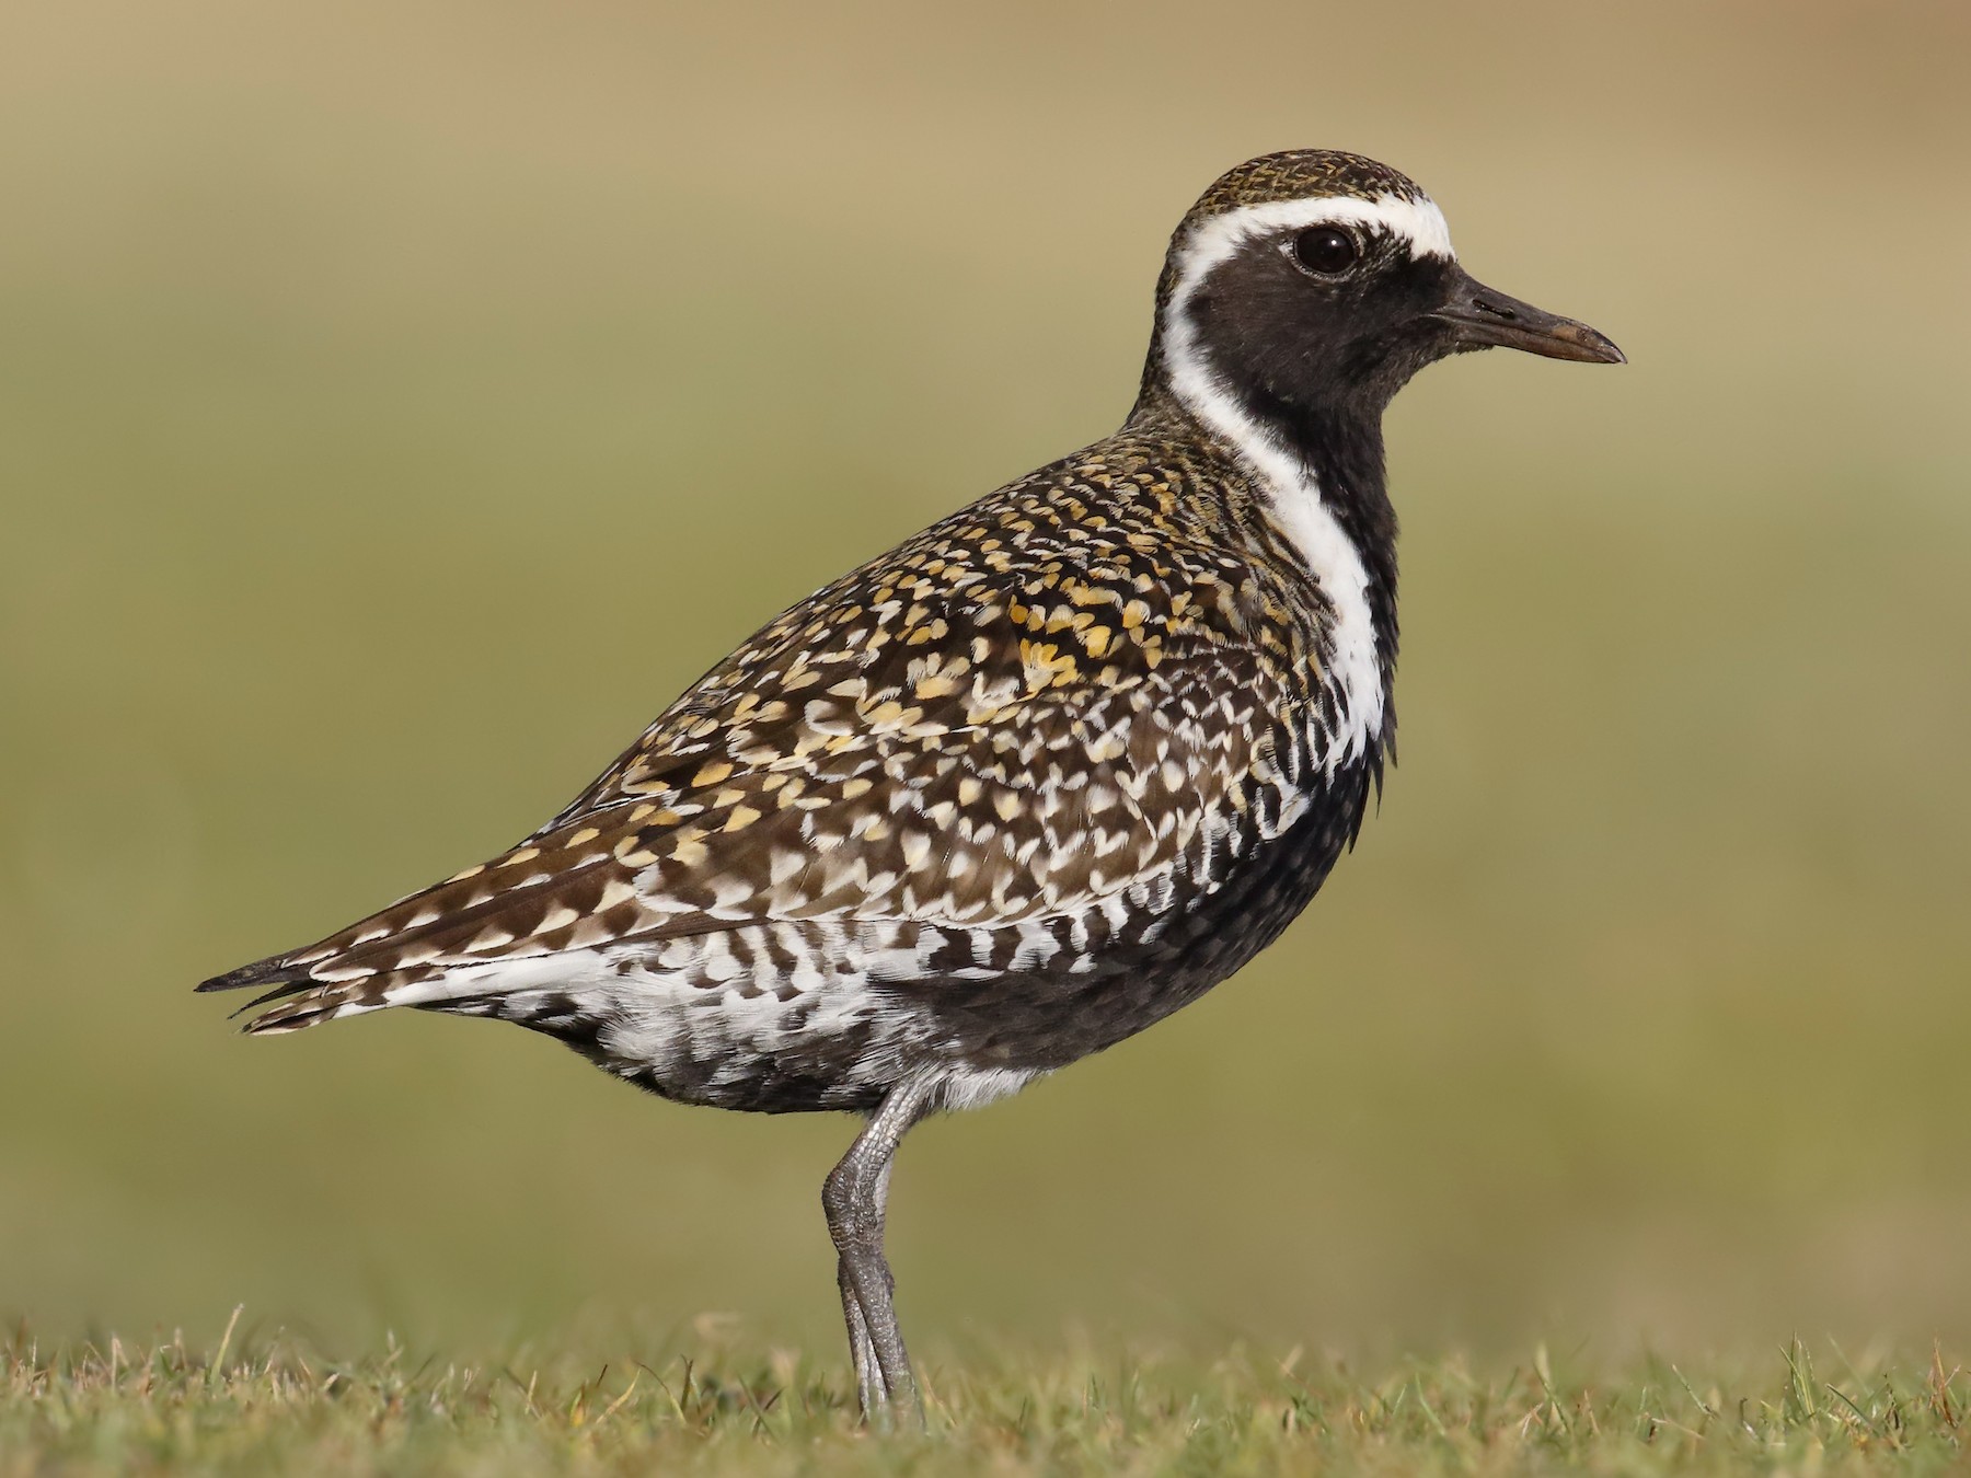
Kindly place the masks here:
POLYGON ((1632 365, 1397 402, 1382 816, 1238 981, 911 1139, 907 1324, 1971 1338, 1967 59, 1961 4, 6 6, 0 1310, 832 1356, 850 1121, 189 987, 1108 432, 1183 209, 1330 144, 1632 365))

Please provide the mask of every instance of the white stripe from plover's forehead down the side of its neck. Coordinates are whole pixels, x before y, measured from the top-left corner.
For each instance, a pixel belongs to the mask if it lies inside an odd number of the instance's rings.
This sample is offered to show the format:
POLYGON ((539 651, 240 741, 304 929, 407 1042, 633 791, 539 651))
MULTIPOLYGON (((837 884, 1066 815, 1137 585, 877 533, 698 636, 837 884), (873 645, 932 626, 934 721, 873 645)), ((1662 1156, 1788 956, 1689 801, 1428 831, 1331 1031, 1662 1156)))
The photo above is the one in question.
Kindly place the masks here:
POLYGON ((1354 540, 1336 522, 1321 497, 1313 467, 1287 451, 1234 400, 1212 372, 1198 347, 1198 327, 1190 319, 1190 300, 1240 246, 1271 231, 1305 231, 1315 225, 1382 227, 1409 242, 1411 258, 1453 258, 1451 231, 1443 213, 1427 199, 1405 201, 1382 195, 1374 201, 1328 197, 1313 201, 1269 201, 1212 217, 1196 227, 1179 254, 1177 284, 1163 323, 1163 367, 1171 390, 1198 420, 1218 432, 1252 467, 1265 487, 1273 522, 1293 540, 1315 583, 1334 607, 1334 650, 1323 674, 1336 690, 1340 725, 1323 755, 1330 774, 1350 765, 1382 735, 1382 660, 1376 654, 1376 621, 1368 603, 1368 568, 1354 540))

